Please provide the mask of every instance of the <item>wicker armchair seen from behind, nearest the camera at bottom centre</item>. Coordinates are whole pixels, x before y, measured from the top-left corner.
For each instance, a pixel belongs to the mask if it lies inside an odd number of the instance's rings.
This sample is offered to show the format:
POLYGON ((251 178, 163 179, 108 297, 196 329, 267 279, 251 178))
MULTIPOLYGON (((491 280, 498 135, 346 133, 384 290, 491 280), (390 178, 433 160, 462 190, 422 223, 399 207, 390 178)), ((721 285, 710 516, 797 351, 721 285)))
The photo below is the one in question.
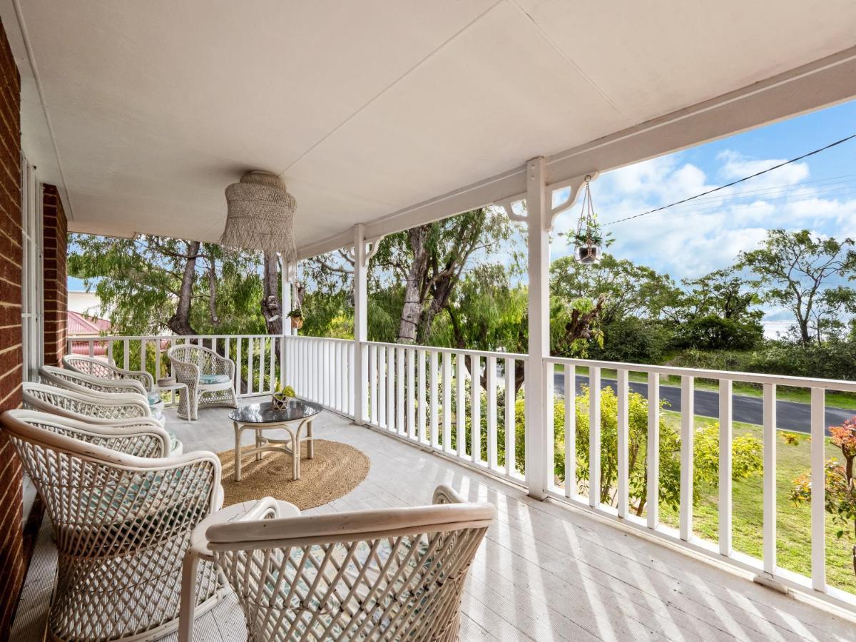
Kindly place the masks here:
POLYGON ((208 546, 253 642, 458 638, 461 593, 496 512, 434 503, 211 526, 208 546))

